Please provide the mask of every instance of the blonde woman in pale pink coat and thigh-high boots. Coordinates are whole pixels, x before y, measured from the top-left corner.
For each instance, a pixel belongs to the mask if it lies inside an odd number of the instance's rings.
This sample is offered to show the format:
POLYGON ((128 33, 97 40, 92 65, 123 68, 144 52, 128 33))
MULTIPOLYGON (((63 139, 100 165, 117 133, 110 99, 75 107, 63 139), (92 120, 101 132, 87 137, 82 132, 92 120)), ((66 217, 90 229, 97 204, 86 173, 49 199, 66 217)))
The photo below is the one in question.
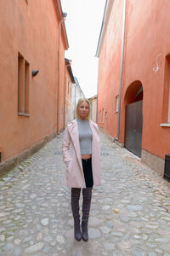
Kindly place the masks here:
POLYGON ((71 187, 71 210, 77 241, 88 241, 88 216, 93 186, 100 185, 100 143, 98 126, 89 120, 90 103, 77 103, 77 119, 68 123, 63 140, 66 165, 65 185, 71 187), (82 189, 82 233, 79 198, 82 189))

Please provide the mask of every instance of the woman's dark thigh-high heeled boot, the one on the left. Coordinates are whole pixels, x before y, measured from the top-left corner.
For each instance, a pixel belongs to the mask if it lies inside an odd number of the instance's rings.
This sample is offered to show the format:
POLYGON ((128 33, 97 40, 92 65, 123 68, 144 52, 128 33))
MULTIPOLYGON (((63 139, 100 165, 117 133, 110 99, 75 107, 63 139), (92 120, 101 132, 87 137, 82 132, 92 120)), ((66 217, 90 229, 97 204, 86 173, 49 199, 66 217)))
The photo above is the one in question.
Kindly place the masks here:
POLYGON ((74 218, 74 234, 77 241, 81 241, 79 198, 81 189, 71 188, 71 210, 74 218))

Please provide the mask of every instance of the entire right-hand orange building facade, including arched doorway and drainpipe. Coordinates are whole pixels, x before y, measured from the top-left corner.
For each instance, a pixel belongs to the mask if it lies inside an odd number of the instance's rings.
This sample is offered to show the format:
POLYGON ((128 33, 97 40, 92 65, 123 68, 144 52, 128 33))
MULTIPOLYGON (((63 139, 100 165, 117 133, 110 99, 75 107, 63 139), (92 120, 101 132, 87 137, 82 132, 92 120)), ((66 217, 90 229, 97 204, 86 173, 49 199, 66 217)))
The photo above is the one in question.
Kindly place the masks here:
POLYGON ((99 125, 161 175, 170 153, 169 9, 168 0, 106 1, 96 54, 99 125))

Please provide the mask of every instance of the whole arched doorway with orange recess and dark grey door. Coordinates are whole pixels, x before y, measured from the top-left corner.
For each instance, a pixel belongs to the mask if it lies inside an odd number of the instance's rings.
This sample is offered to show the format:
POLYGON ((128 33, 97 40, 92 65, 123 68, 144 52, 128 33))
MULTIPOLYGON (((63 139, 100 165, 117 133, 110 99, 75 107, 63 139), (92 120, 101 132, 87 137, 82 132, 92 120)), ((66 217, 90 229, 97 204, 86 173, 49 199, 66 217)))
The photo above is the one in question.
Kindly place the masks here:
POLYGON ((125 106, 125 148, 141 157, 143 86, 139 80, 128 86, 125 106))

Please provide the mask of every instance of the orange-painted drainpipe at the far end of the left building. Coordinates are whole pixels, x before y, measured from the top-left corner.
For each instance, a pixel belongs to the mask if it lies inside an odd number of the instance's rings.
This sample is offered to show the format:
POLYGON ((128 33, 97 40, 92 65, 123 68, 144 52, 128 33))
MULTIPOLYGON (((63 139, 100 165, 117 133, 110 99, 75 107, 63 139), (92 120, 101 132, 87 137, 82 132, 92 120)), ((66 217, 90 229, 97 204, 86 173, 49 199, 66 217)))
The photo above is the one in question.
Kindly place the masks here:
POLYGON ((59 65, 59 57, 60 57, 60 34, 61 34, 61 24, 65 21, 65 18, 59 21, 59 48, 58 48, 58 84, 57 84, 57 134, 59 134, 59 78, 60 78, 60 65, 59 65))

